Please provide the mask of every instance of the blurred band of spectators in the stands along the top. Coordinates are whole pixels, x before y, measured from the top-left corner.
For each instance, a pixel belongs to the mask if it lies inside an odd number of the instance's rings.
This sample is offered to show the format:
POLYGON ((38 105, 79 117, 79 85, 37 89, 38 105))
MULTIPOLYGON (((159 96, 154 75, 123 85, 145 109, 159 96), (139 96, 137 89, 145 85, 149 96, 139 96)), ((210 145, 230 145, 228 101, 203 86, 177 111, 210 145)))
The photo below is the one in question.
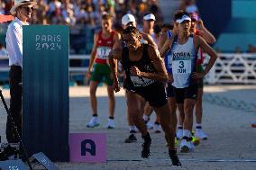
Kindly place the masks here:
MULTIPOLYGON (((96 27, 105 12, 112 13, 116 22, 125 13, 142 22, 146 12, 154 13, 157 21, 162 21, 158 0, 37 0, 37 3, 32 23, 96 27)), ((0 0, 0 13, 9 14, 13 4, 14 0, 0 0)))

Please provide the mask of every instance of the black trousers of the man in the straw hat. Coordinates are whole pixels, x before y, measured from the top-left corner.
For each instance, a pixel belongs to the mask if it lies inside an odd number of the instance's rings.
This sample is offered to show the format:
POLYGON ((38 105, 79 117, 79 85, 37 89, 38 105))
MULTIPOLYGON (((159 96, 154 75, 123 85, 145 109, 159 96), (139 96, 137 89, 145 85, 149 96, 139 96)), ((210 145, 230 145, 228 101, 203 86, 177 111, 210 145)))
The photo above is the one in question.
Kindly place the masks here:
POLYGON ((6 139, 9 143, 18 142, 17 133, 14 130, 14 123, 22 137, 22 104, 23 104, 23 87, 22 87, 23 69, 19 66, 11 66, 9 72, 10 85, 10 116, 7 116, 6 122, 6 139))

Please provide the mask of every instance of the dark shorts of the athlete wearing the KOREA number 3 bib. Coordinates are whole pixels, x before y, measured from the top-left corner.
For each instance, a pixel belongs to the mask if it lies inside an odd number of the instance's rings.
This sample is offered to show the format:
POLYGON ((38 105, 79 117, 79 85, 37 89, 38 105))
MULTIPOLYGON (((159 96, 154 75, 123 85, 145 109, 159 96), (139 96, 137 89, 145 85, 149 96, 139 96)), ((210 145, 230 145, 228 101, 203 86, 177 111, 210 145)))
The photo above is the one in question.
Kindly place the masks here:
POLYGON ((184 103, 184 99, 195 99, 197 100, 198 85, 193 84, 185 88, 173 87, 174 96, 177 103, 184 103))

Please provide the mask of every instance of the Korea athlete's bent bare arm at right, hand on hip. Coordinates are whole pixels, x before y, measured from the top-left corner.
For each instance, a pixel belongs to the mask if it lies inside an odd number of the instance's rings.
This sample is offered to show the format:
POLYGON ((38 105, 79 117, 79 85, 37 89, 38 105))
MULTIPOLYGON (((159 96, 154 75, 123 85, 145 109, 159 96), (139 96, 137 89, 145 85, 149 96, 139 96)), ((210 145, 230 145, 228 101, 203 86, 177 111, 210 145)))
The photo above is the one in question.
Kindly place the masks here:
POLYGON ((216 58, 218 58, 217 53, 215 52, 215 49, 212 49, 211 46, 209 46, 202 37, 194 35, 194 44, 196 46, 196 49, 199 47, 203 48, 204 51, 210 56, 210 60, 206 66, 206 69, 202 73, 196 73, 194 72, 192 74, 192 77, 195 79, 203 78, 206 76, 206 74, 210 71, 210 69, 214 66, 216 58))

